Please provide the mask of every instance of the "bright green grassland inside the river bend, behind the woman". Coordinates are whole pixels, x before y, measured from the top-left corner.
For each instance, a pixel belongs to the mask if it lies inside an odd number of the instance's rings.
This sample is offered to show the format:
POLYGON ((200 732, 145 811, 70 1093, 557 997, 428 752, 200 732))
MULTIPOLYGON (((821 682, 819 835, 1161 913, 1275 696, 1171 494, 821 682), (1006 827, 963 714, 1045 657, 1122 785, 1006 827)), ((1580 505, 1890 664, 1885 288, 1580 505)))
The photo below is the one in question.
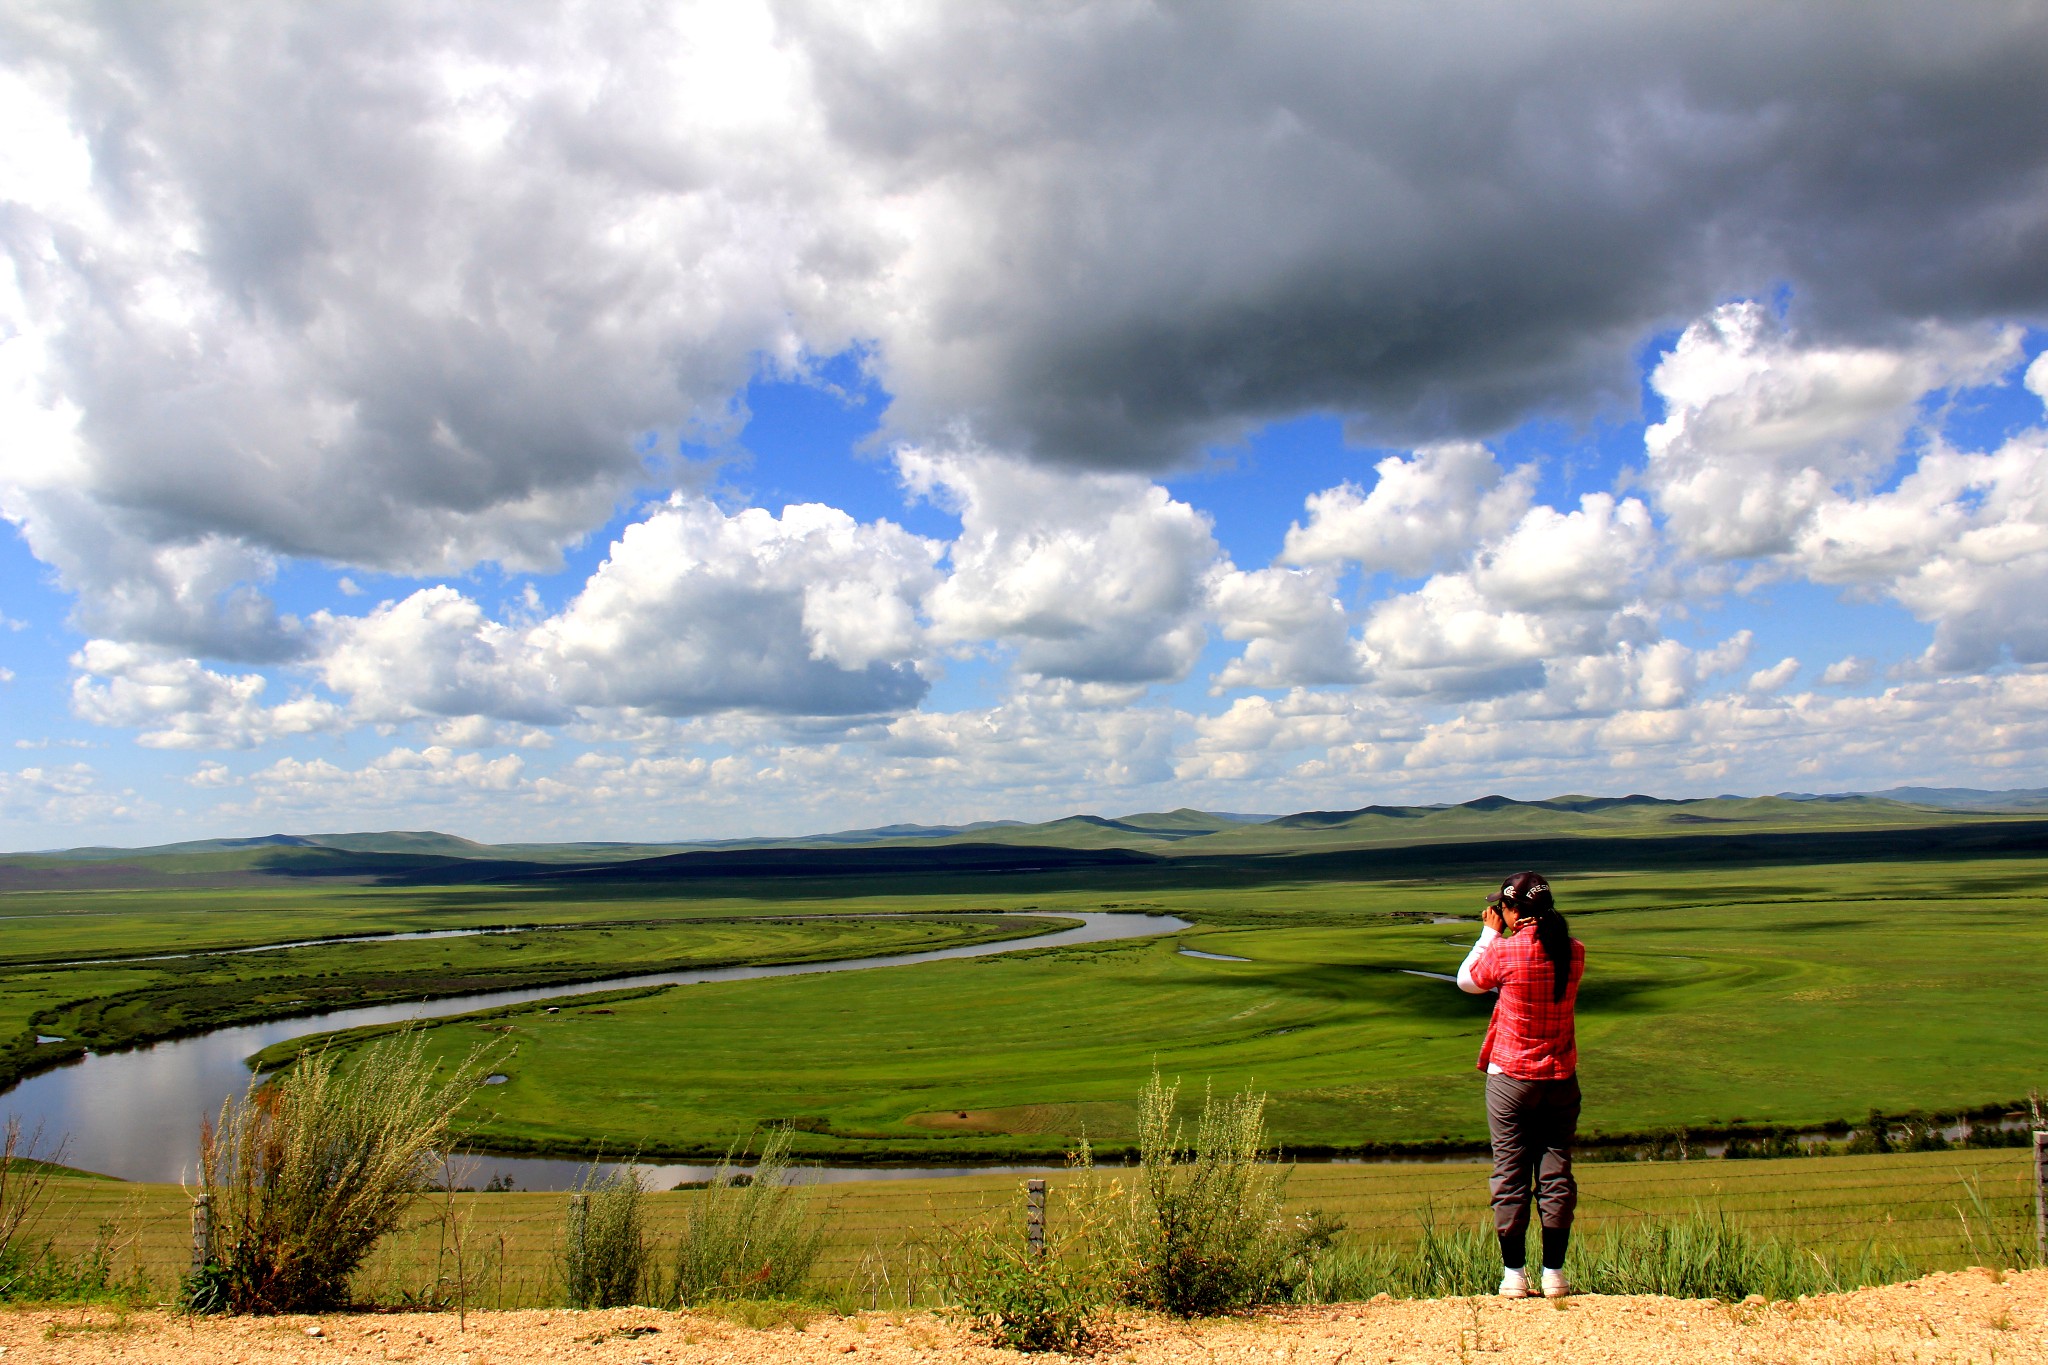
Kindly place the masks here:
MULTIPOLYGON (((1583 1132, 1815 1126, 2023 1095, 2044 1072, 2013 1031, 2048 1005, 2044 876, 2038 860, 1999 860, 1554 878, 1591 964, 1583 1132)), ((799 1150, 844 1160, 1057 1154, 1083 1128, 1126 1140, 1130 1095, 1157 1064, 1270 1093, 1272 1134, 1296 1150, 1477 1142, 1487 1003, 1407 974, 1456 968, 1473 925, 1430 917, 1475 898, 1446 884, 1159 894, 1108 905, 1198 929, 670 988, 602 1015, 516 1007, 483 1019, 512 1046, 510 1083, 467 1121, 496 1150, 715 1154, 791 1119, 799 1150)), ((440 1025, 436 1048, 467 1052, 477 1025, 440 1025)))

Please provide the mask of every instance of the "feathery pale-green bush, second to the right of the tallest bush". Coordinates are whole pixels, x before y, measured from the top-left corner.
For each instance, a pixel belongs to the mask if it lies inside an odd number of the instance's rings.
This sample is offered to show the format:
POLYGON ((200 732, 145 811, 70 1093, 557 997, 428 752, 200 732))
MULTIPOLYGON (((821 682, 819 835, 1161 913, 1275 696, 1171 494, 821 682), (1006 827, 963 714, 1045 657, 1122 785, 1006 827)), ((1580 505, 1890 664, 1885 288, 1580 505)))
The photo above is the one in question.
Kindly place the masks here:
POLYGON ((711 1183, 690 1197, 676 1244, 676 1304, 788 1300, 811 1277, 825 1244, 811 1187, 791 1183, 791 1128, 768 1130, 754 1171, 727 1152, 711 1183))

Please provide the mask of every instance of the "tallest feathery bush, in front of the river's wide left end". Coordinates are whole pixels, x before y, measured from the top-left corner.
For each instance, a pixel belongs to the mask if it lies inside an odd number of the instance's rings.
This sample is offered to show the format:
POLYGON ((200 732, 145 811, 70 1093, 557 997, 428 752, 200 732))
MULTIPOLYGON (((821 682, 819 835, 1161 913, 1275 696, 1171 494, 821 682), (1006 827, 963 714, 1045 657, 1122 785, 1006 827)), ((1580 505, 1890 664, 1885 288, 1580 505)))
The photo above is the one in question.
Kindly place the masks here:
POLYGON ((309 1312, 348 1297, 348 1277, 432 1189, 449 1121, 483 1074, 473 1052, 446 1074, 401 1029, 346 1068, 322 1048, 221 1105, 201 1130, 199 1183, 213 1195, 207 1304, 309 1312))

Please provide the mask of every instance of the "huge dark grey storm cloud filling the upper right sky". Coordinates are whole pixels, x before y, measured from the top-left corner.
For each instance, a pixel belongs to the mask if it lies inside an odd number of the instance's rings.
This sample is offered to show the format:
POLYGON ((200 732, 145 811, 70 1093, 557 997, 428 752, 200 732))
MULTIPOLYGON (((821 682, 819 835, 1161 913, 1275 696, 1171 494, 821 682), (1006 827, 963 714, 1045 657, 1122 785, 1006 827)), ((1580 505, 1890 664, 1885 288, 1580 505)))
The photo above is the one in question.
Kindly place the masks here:
POLYGON ((840 137, 961 217, 899 420, 1161 465, 1634 403, 1731 295, 2048 303, 2048 25, 2011 6, 1120 6, 807 29, 840 137))

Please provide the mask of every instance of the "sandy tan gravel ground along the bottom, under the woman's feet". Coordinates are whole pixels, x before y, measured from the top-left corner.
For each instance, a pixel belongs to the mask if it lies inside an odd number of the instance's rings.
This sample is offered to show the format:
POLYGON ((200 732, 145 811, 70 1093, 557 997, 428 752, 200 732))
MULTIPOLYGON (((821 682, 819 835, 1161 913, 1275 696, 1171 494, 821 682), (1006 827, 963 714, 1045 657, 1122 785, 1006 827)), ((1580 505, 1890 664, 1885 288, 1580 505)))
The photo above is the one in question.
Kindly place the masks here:
MULTIPOLYGON (((332 1314, 188 1322, 106 1310, 0 1314, 4 1365, 418 1361, 1020 1361, 975 1345, 924 1314, 813 1318, 803 1328, 750 1330, 709 1316, 649 1310, 471 1314, 332 1314)), ((1044 1357, 1040 1357, 1044 1359, 1044 1357)), ((1253 1318, 1167 1322, 1133 1318, 1102 1361, 1382 1365, 1511 1361, 1513 1365, 1890 1365, 2048 1363, 2048 1271, 1931 1275, 1907 1285, 1798 1304, 1583 1295, 1343 1304, 1253 1318)))

